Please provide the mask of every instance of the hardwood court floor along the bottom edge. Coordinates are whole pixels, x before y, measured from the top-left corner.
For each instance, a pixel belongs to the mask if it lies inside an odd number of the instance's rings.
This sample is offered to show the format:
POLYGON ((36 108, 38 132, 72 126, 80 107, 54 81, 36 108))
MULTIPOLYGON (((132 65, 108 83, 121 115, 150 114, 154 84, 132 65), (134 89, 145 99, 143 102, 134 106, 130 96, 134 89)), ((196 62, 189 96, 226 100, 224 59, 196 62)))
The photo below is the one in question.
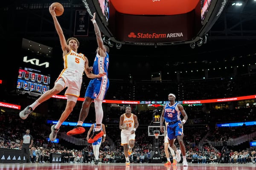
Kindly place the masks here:
POLYGON ((131 163, 130 166, 125 166, 125 163, 1 163, 0 170, 256 170, 256 164, 189 164, 183 167, 182 163, 175 166, 153 163, 131 163))

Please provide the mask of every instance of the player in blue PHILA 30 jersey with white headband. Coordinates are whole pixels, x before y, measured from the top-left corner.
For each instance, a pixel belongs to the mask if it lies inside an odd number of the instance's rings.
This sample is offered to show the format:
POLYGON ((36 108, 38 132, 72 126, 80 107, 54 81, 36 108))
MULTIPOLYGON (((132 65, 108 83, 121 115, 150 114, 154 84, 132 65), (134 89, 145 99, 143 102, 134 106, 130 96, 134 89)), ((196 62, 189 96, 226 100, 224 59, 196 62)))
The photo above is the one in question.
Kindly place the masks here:
POLYGON ((175 138, 180 144, 181 153, 183 155, 183 166, 187 167, 188 163, 186 161, 186 147, 183 142, 183 125, 186 123, 188 116, 183 106, 175 102, 176 96, 174 94, 168 95, 169 102, 164 105, 163 111, 160 117, 160 130, 164 133, 164 120, 167 125, 167 135, 169 139, 169 145, 176 152, 177 162, 180 161, 180 150, 177 150, 177 147, 174 144, 175 138), (180 114, 183 116, 183 120, 181 121, 180 114))

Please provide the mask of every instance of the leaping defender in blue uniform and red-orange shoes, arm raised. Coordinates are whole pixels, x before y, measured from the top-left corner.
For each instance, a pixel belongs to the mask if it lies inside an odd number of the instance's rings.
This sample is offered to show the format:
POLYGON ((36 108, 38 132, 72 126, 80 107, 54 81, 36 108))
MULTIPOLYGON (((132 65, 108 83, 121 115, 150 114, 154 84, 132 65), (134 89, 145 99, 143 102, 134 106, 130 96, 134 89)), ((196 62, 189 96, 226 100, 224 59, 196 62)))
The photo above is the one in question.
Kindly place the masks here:
POLYGON ((85 118, 89 113, 90 104, 94 102, 95 113, 96 113, 96 127, 92 136, 88 139, 89 143, 93 143, 101 136, 103 136, 103 131, 101 130, 102 119, 103 119, 103 108, 102 101, 105 98, 105 94, 108 90, 109 80, 108 80, 108 63, 109 63, 109 48, 103 44, 101 37, 101 32, 99 26, 96 23, 96 14, 93 14, 91 21, 93 22, 94 31, 96 34, 96 39, 98 43, 98 48, 96 50, 96 57, 93 62, 93 73, 105 73, 101 78, 92 79, 87 86, 85 92, 85 99, 79 114, 79 121, 74 129, 67 132, 67 135, 76 135, 85 132, 84 127, 82 127, 85 118))

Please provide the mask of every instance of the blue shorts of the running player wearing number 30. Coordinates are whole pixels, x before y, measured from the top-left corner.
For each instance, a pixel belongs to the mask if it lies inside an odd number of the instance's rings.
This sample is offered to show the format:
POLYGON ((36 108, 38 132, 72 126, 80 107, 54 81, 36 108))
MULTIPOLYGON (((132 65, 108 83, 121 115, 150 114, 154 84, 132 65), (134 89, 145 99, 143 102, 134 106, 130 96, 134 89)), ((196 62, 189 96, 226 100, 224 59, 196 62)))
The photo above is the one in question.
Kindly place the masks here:
POLYGON ((175 139, 176 136, 183 135, 183 127, 180 128, 179 123, 181 123, 180 120, 178 120, 176 122, 169 122, 168 123, 168 125, 167 125, 167 135, 168 135, 168 138, 170 140, 175 139))

